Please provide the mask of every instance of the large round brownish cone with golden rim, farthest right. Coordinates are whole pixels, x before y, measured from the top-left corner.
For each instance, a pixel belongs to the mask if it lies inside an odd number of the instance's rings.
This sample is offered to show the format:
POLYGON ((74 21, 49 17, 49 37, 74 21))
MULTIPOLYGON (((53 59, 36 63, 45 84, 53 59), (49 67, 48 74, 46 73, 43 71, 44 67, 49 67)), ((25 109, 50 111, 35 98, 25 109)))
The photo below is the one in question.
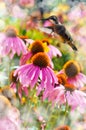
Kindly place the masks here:
POLYGON ((80 72, 80 65, 73 60, 68 61, 63 67, 68 77, 75 77, 80 72))

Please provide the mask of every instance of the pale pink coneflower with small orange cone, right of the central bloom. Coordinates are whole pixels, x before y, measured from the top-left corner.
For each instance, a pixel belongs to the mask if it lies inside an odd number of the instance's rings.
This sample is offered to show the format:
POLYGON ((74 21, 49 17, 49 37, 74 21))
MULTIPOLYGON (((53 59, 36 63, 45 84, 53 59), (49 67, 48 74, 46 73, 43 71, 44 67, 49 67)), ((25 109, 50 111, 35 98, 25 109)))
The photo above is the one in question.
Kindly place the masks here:
POLYGON ((58 74, 58 84, 54 86, 52 91, 47 91, 43 94, 43 100, 48 98, 49 101, 52 102, 52 105, 55 104, 64 104, 66 102, 65 94, 64 94, 64 84, 66 84, 66 76, 64 74, 58 74))

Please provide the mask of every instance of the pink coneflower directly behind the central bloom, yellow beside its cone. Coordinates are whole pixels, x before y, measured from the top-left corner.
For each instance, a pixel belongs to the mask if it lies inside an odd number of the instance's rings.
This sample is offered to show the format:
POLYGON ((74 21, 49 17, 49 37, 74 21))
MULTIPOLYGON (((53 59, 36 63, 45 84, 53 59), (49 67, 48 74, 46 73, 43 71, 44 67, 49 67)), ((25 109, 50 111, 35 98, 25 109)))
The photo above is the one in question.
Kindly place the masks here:
MULTIPOLYGON (((31 39, 27 39, 26 41, 28 44, 30 44, 30 46, 28 49, 28 53, 22 55, 20 59, 20 65, 25 64, 33 55, 35 55, 38 52, 46 52, 49 55, 50 59, 52 59, 55 56, 62 56, 61 52, 53 45, 50 45, 47 39, 44 39, 42 41, 33 41, 31 39)), ((51 67, 53 68, 52 62, 51 67)))

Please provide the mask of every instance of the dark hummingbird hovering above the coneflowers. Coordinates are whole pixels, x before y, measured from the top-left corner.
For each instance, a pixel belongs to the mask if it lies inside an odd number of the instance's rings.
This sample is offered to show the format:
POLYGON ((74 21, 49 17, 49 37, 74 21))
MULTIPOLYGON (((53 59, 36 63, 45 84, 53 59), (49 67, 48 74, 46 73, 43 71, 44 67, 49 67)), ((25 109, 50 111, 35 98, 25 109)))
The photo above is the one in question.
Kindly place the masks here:
POLYGON ((61 24, 58 20, 58 18, 55 15, 52 15, 48 18, 41 19, 43 22, 46 20, 49 20, 52 22, 52 26, 46 26, 45 28, 51 29, 52 32, 56 35, 59 35, 64 43, 67 43, 74 51, 77 51, 76 46, 74 45, 74 41, 70 35, 70 33, 67 31, 66 27, 61 24))

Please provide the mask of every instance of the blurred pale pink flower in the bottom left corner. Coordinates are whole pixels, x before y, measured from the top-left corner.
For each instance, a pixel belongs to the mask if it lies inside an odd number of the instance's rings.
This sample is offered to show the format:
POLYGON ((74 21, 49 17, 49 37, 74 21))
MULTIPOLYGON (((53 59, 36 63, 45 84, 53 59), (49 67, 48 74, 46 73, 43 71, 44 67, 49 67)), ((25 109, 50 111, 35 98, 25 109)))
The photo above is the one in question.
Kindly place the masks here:
POLYGON ((20 130, 20 112, 10 101, 0 95, 0 130, 20 130))

